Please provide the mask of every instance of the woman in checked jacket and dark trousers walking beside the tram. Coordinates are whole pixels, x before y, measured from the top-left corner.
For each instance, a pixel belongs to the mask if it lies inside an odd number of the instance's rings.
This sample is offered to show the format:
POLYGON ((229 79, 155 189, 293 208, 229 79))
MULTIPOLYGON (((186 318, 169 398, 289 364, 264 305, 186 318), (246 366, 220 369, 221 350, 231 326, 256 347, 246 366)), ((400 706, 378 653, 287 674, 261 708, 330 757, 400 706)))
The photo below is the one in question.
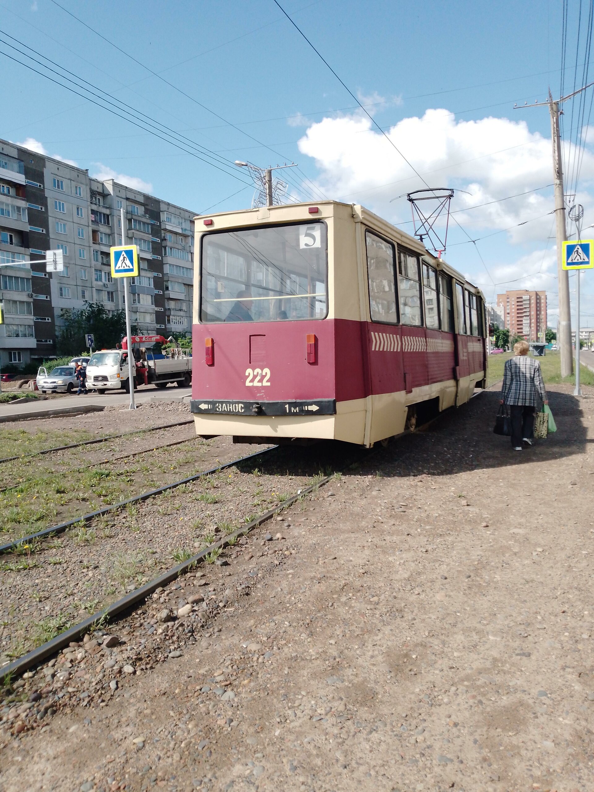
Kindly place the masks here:
POLYGON ((514 451, 522 450, 523 441, 532 445, 537 402, 549 403, 538 360, 527 357, 529 349, 526 341, 514 344, 515 357, 505 361, 503 374, 501 404, 509 406, 514 451))

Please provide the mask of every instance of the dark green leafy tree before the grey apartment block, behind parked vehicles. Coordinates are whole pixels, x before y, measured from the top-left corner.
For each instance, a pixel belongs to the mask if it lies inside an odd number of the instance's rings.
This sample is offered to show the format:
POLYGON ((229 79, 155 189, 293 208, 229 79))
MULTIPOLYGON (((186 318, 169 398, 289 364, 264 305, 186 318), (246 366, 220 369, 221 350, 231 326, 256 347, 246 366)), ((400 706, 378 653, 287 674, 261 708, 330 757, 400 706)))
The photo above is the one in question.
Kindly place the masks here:
POLYGON ((63 355, 79 355, 86 349, 86 333, 93 333, 97 349, 114 348, 126 334, 124 309, 110 313, 103 303, 85 303, 81 310, 64 308, 60 317, 63 326, 59 328, 57 347, 63 355))

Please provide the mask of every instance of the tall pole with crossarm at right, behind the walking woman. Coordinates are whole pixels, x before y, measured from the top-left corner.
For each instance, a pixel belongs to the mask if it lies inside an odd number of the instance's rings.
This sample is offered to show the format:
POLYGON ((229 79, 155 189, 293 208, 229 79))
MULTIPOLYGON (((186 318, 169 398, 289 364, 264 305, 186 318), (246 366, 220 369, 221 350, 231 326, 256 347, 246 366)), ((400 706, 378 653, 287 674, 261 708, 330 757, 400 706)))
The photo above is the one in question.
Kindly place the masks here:
POLYGON ((567 239, 565 228, 565 192, 563 188, 563 165, 561 154, 561 133, 559 131, 559 105, 581 93, 586 88, 594 85, 588 83, 573 93, 568 93, 566 97, 561 97, 553 101, 553 96, 549 89, 549 98, 546 101, 535 102, 533 105, 514 106, 515 110, 523 107, 541 107, 548 105, 550 112, 550 129, 553 138, 553 174, 554 174, 554 196, 555 196, 555 219, 556 219, 556 240, 557 240, 557 273, 559 284, 559 321, 557 333, 557 345, 561 351, 561 375, 569 377, 573 374, 573 349, 571 345, 571 306, 569 304, 569 276, 566 269, 563 269, 563 242, 567 239))

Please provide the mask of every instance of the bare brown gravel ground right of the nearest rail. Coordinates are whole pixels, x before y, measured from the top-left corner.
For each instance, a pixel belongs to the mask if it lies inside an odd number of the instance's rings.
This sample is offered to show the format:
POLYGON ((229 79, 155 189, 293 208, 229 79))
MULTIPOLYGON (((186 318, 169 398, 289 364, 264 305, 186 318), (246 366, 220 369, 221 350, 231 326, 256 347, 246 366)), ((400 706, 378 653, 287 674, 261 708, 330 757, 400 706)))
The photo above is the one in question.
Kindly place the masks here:
POLYGON ((18 680, 0 790, 591 790, 594 390, 569 390, 521 454, 482 395, 18 680))

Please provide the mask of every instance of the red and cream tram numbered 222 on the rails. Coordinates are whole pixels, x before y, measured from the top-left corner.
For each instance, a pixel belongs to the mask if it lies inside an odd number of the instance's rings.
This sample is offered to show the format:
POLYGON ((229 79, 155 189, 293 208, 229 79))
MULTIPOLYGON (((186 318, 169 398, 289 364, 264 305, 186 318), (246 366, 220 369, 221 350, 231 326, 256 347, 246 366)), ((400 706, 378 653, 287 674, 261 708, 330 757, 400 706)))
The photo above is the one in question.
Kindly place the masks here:
POLYGON ((485 387, 482 294, 361 206, 196 217, 199 435, 371 446, 485 387))

